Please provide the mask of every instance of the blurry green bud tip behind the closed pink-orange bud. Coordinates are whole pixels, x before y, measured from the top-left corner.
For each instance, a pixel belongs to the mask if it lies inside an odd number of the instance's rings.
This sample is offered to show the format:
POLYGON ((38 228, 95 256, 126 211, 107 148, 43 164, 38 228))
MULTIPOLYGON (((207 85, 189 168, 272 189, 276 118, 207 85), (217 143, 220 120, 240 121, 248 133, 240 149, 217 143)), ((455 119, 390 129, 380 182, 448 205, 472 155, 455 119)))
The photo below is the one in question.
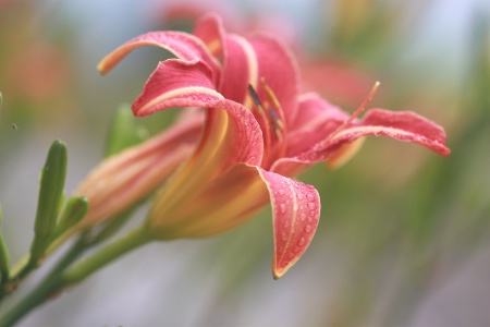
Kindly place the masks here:
POLYGON ((113 156, 126 147, 136 145, 148 137, 148 132, 135 125, 128 105, 121 106, 114 116, 106 146, 106 157, 113 156))

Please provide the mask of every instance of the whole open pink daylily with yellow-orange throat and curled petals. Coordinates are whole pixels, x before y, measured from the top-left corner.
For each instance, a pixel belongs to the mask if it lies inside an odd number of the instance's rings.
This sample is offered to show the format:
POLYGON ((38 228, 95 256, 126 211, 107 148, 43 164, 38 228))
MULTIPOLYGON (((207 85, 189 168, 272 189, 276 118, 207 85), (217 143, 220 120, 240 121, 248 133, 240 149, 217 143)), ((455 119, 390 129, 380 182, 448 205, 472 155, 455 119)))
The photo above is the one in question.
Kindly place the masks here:
POLYGON ((444 131, 416 113, 372 109, 359 120, 367 101, 351 117, 315 94, 299 95, 296 63, 283 43, 226 33, 217 16, 203 17, 193 34, 136 37, 99 70, 108 72, 142 46, 176 58, 158 64, 133 105, 135 116, 174 107, 206 112, 196 150, 155 196, 146 223, 158 239, 220 233, 270 203, 279 278, 306 251, 320 217, 318 192, 294 177, 320 161, 339 165, 367 135, 450 153, 444 131))

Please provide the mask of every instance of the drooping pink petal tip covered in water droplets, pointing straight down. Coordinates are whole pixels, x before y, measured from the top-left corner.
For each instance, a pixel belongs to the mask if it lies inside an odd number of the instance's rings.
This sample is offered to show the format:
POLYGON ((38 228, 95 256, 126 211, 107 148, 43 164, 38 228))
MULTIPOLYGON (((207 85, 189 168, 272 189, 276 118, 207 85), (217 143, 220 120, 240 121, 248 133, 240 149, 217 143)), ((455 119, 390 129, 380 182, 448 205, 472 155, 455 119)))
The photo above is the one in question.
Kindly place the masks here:
POLYGON ((320 218, 320 196, 311 185, 259 170, 272 204, 274 256, 272 274, 282 277, 305 253, 320 218))

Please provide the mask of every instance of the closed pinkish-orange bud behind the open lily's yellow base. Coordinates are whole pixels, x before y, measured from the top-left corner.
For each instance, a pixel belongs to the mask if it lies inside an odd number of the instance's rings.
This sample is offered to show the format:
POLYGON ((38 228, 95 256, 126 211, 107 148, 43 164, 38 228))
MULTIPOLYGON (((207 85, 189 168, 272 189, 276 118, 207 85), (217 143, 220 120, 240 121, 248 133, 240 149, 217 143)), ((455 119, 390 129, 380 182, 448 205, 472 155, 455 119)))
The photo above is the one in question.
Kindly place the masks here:
POLYGON ((75 191, 88 198, 81 227, 99 223, 154 192, 194 152, 203 114, 186 114, 172 128, 103 160, 75 191))

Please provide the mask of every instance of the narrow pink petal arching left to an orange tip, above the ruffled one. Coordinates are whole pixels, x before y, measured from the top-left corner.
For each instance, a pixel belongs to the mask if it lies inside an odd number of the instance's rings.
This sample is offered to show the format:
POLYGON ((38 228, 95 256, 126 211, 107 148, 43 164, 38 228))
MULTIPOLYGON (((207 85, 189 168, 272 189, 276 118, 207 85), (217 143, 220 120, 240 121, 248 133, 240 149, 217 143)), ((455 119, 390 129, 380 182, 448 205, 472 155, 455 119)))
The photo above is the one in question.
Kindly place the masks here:
POLYGON ((105 74, 136 48, 156 46, 163 48, 185 62, 203 61, 212 71, 213 82, 218 81, 220 64, 196 36, 181 32, 151 32, 125 43, 103 58, 98 70, 105 74))

